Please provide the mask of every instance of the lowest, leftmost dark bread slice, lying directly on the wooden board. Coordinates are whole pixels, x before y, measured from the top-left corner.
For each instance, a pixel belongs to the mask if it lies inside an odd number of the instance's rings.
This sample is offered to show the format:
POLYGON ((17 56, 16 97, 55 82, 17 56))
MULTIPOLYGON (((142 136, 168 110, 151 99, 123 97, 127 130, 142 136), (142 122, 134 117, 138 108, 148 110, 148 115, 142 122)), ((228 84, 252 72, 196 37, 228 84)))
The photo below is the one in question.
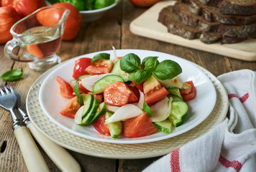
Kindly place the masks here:
POLYGON ((237 38, 224 36, 218 32, 202 32, 199 29, 182 24, 178 18, 178 15, 175 14, 174 11, 175 8, 173 8, 173 6, 166 6, 160 11, 158 16, 158 22, 165 25, 168 32, 171 34, 175 34, 186 39, 200 39, 201 42, 206 44, 211 44, 218 40, 220 40, 220 42, 223 44, 229 44, 241 42, 244 39, 247 39, 247 37, 237 38))

